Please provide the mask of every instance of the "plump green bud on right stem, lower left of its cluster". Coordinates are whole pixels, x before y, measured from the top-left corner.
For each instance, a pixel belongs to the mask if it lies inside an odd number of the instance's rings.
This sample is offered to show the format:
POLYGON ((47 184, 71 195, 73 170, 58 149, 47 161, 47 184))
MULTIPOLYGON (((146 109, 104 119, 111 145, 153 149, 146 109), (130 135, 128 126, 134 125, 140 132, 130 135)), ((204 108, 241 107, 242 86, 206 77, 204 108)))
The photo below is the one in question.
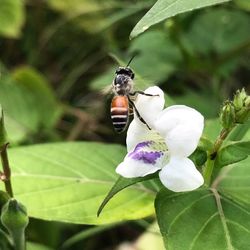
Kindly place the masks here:
POLYGON ((227 101, 222 107, 220 121, 225 129, 229 129, 235 124, 235 108, 232 102, 227 101))

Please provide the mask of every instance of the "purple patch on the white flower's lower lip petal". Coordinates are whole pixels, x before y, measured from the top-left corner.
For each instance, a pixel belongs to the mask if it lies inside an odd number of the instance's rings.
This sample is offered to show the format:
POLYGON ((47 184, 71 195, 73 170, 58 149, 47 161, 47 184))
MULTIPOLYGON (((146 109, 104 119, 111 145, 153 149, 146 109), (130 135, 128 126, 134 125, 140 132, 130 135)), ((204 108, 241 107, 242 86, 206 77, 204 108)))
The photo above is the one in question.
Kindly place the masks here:
POLYGON ((161 151, 143 151, 143 148, 148 148, 153 142, 141 142, 139 143, 133 152, 128 156, 134 160, 143 161, 145 164, 156 164, 158 158, 160 158, 163 153, 161 151))

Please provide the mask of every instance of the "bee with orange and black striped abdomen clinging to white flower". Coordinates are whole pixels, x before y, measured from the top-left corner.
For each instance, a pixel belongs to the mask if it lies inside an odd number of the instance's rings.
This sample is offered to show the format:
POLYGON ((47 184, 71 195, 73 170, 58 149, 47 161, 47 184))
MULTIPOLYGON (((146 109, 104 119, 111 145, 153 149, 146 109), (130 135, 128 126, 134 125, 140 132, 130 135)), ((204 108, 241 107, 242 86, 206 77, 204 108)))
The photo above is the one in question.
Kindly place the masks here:
MULTIPOLYGON (((155 96, 144 93, 143 91, 133 91, 135 74, 130 69, 129 64, 134 56, 130 59, 126 67, 119 67, 115 71, 115 78, 112 83, 114 97, 111 101, 111 119, 114 129, 117 133, 122 133, 128 126, 130 105, 134 108, 136 115, 140 121, 150 129, 146 121, 141 117, 138 112, 133 99, 137 94, 146 96, 155 96)), ((158 96, 158 95, 157 95, 158 96)))

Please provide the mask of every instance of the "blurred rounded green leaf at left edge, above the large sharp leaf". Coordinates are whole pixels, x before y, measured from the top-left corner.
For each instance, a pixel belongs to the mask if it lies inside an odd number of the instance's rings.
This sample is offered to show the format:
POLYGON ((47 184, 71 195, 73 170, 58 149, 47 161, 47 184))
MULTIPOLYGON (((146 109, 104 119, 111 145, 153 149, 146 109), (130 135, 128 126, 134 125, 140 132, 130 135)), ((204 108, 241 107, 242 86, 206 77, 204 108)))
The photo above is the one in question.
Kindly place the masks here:
POLYGON ((17 69, 14 75, 3 72, 0 103, 11 143, 18 143, 41 129, 51 129, 61 112, 48 82, 28 67, 17 69))

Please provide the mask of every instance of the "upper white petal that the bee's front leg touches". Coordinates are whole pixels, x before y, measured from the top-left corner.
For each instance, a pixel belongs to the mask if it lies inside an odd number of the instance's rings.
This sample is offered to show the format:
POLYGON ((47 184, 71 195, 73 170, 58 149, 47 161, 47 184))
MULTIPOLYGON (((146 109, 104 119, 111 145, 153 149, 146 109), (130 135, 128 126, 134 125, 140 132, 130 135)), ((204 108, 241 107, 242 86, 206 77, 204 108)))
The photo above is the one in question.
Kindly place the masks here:
MULTIPOLYGON (((162 111, 165 103, 163 91, 157 87, 149 87, 144 93, 159 96, 146 96, 138 94, 135 106, 139 111, 141 117, 147 122, 147 124, 152 128, 154 121, 158 114, 162 111)), ((135 115, 134 119, 139 121, 139 118, 135 115)))

